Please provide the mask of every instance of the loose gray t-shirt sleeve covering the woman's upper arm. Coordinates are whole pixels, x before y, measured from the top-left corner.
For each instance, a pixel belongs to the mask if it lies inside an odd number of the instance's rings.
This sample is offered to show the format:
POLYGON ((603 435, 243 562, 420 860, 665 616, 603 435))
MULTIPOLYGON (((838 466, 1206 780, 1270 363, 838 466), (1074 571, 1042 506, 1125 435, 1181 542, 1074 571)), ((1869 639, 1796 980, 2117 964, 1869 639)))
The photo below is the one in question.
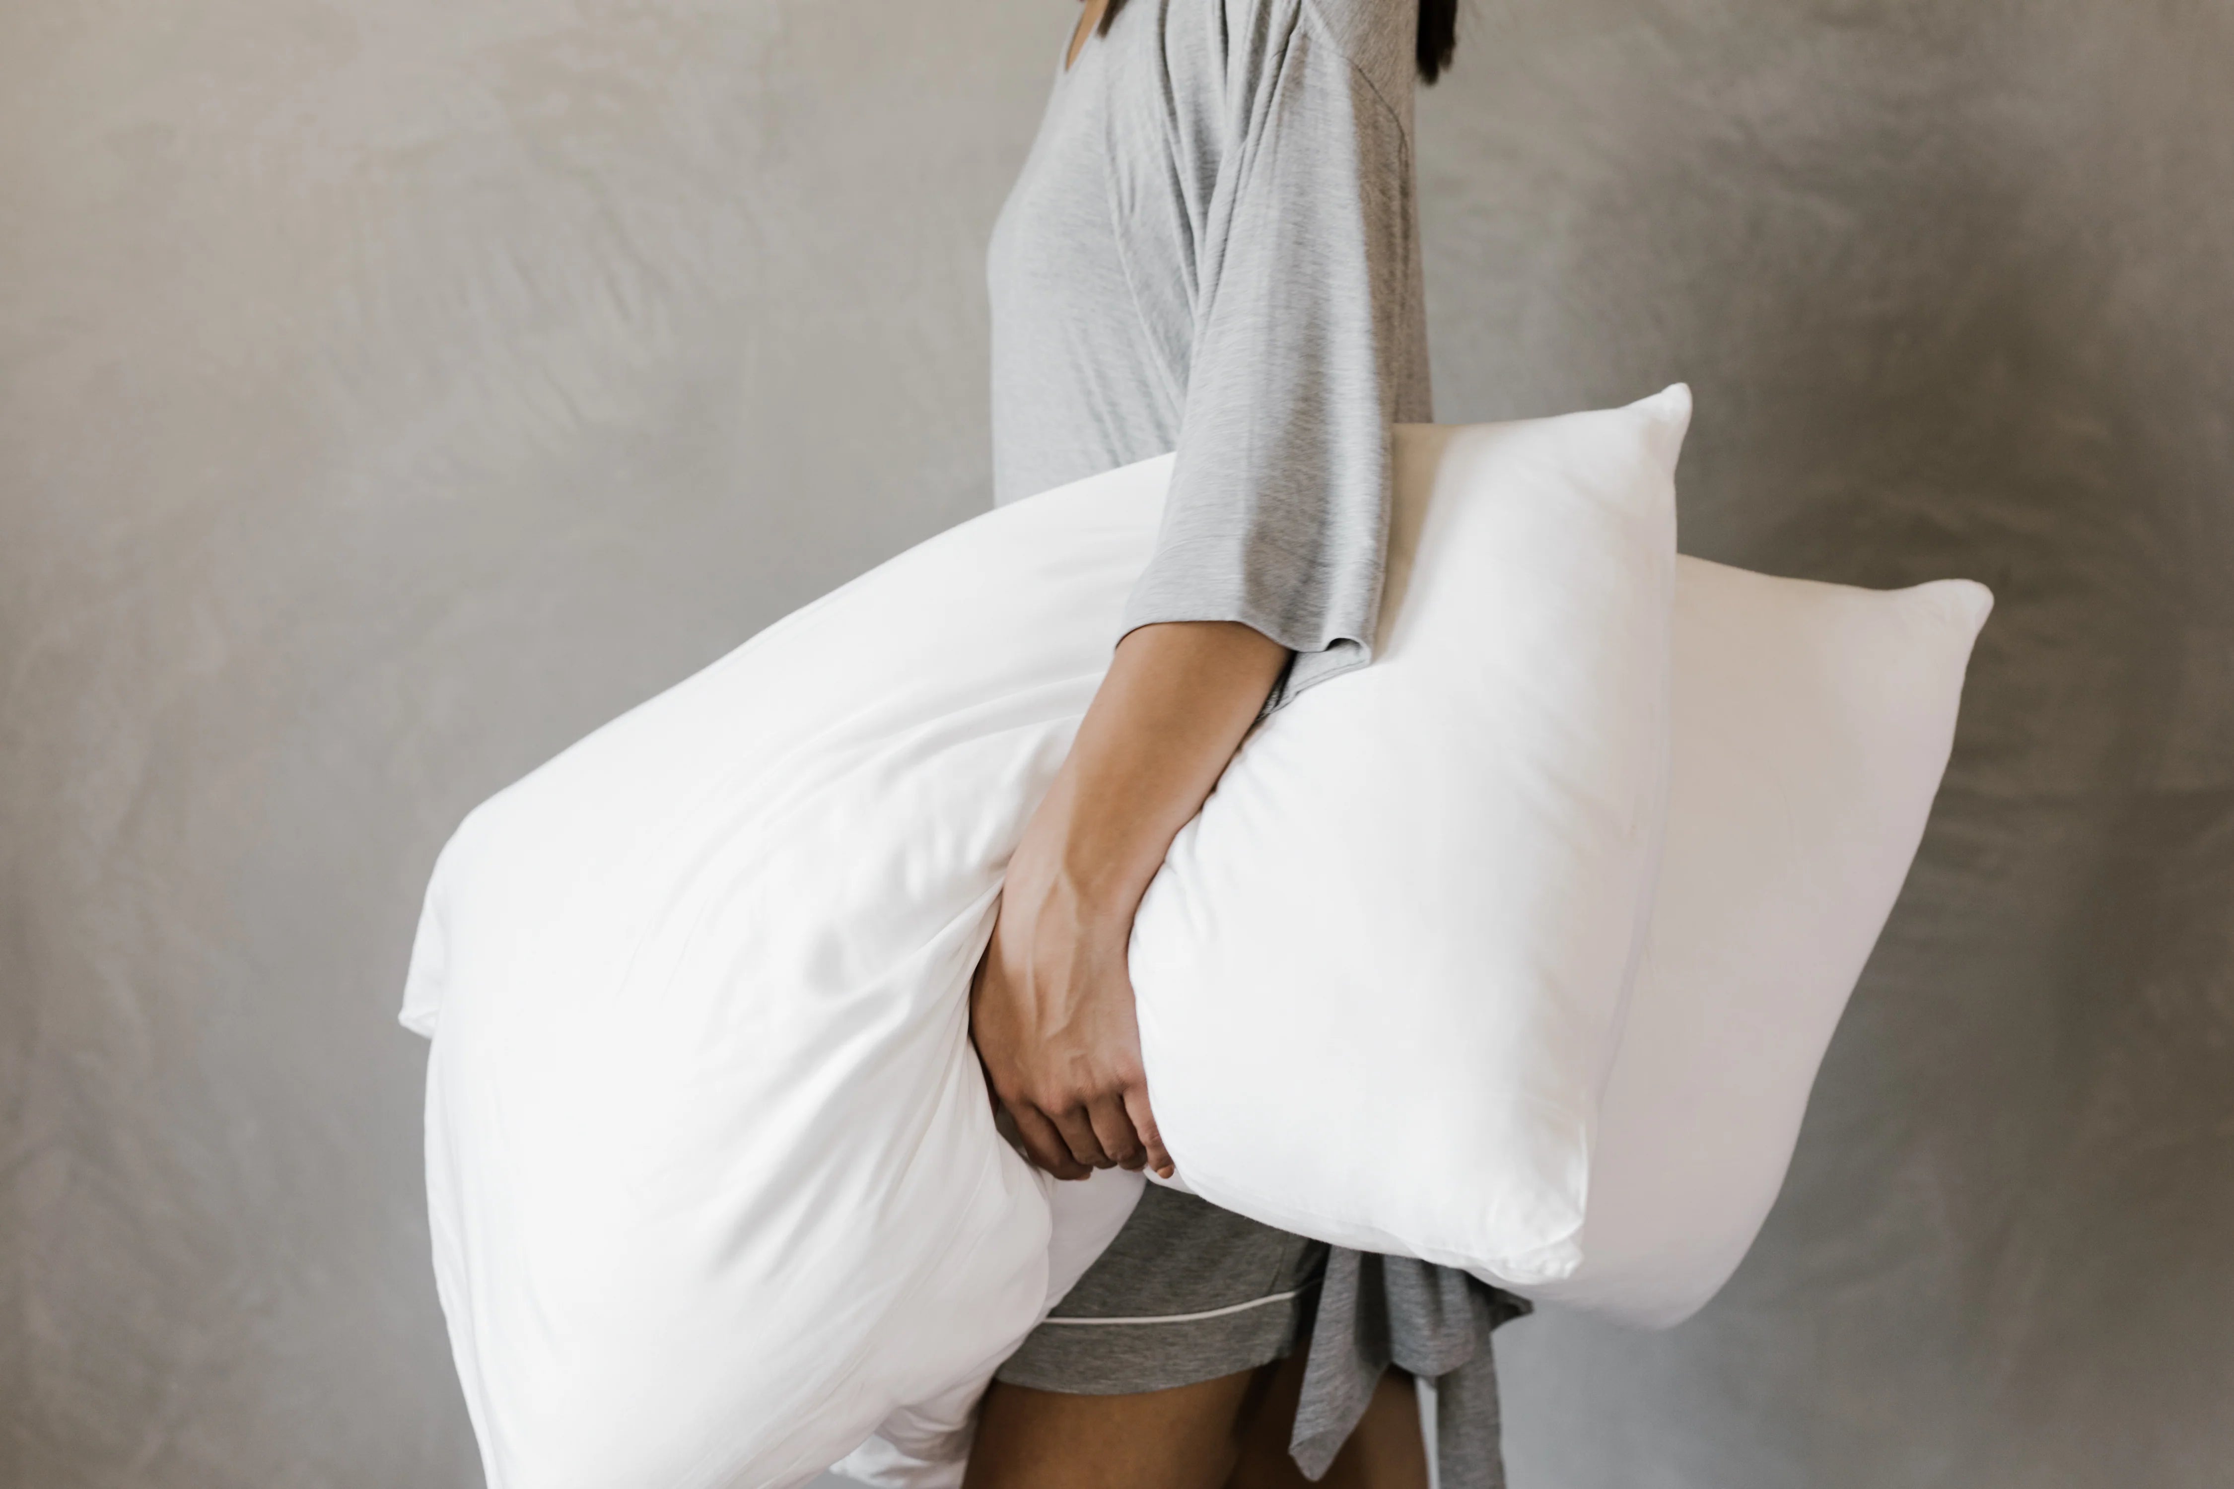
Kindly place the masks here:
POLYGON ((1220 165, 1177 464, 1124 612, 1124 630, 1242 621, 1293 650, 1264 712, 1372 659, 1392 426, 1425 380, 1410 121, 1289 16, 1220 165))

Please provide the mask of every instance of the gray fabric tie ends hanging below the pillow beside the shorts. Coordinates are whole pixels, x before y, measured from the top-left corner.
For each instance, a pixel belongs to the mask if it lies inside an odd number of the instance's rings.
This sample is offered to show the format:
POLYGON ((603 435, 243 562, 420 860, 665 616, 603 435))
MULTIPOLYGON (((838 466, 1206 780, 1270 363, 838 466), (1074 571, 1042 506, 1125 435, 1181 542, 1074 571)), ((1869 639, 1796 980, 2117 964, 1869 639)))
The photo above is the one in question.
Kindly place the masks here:
POLYGON ((1289 1438, 1296 1467, 1309 1480, 1334 1467, 1381 1373, 1394 1364, 1436 1386, 1441 1489, 1503 1489, 1490 1331, 1528 1310, 1526 1299, 1457 1268, 1329 1250, 1289 1438))

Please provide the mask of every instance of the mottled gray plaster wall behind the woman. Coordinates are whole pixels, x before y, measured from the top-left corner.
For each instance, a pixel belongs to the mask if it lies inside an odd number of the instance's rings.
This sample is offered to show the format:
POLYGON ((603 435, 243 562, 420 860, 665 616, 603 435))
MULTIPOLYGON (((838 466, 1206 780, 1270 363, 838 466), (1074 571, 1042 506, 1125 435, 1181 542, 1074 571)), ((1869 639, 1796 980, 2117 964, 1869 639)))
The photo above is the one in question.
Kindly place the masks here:
MULTIPOLYGON (((0 1473, 478 1480, 431 855, 987 500, 1070 7, 0 7, 0 1473)), ((2002 598, 1783 1205, 1501 1337, 1519 1489, 2234 1458, 2234 9, 1477 0, 1441 413, 1687 377, 1684 547, 2002 598)))

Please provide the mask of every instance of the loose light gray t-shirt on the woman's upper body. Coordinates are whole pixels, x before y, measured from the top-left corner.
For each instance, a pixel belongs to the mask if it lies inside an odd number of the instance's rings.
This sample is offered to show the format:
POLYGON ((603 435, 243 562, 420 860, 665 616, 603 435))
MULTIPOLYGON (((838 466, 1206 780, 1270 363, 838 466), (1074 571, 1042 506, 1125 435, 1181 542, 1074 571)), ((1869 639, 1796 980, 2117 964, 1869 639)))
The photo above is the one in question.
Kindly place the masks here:
MULTIPOLYGON (((1416 0, 1130 0, 994 225, 994 502, 1177 449, 1124 630, 1242 621, 1267 712, 1372 654, 1390 426, 1434 417, 1416 0)), ((1061 67, 1061 58, 1057 58, 1061 67)))

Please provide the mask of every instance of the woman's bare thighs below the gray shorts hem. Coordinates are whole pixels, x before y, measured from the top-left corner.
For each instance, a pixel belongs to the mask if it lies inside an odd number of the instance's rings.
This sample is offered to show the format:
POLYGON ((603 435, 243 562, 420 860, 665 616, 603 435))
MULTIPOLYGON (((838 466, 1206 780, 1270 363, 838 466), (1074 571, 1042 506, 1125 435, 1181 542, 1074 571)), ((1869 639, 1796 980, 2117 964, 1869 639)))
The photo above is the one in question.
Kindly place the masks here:
MULTIPOLYGON (((1137 1395, 994 1384, 963 1489, 1309 1489, 1287 1456, 1305 1348, 1137 1395)), ((1412 1377, 1390 1371, 1316 1489, 1428 1489, 1412 1377)))

